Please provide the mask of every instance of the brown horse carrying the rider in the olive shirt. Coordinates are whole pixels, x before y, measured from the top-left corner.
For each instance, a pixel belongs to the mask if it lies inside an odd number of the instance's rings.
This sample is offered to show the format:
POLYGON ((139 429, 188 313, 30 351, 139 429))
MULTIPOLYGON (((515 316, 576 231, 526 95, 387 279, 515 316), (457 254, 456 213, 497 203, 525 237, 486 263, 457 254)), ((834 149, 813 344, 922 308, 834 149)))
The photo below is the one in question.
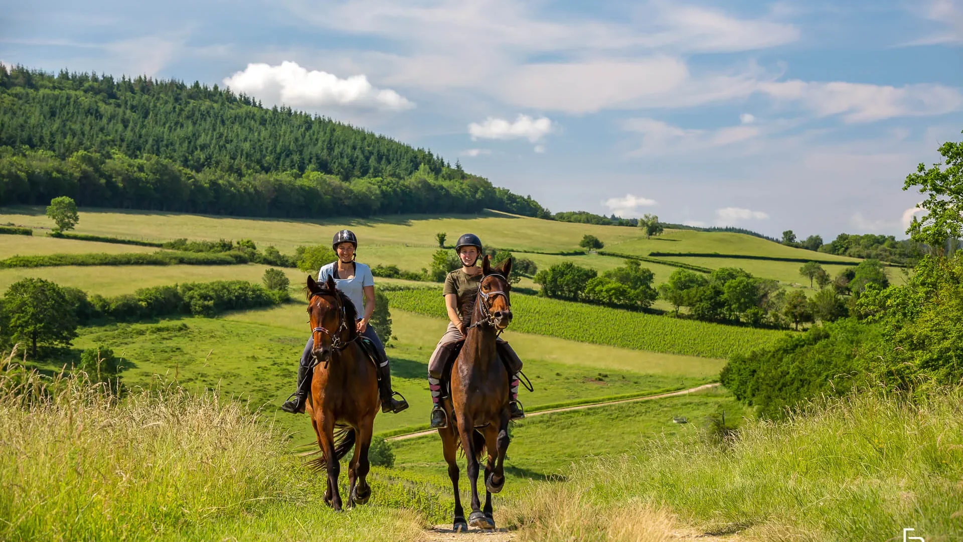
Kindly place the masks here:
POLYGON ((452 366, 451 398, 445 399, 448 426, 438 429, 444 446, 448 476, 455 487, 455 531, 495 528, 491 494, 505 486, 505 454, 508 451, 508 370, 498 358, 495 339, 508 327, 511 308, 508 273, 511 258, 492 268, 487 256, 481 260, 481 284, 475 297, 472 321, 455 364, 452 366), (472 485, 472 513, 465 523, 458 493, 458 447, 465 451, 468 479, 472 485), (485 501, 480 510, 479 460, 487 450, 484 468, 485 501))

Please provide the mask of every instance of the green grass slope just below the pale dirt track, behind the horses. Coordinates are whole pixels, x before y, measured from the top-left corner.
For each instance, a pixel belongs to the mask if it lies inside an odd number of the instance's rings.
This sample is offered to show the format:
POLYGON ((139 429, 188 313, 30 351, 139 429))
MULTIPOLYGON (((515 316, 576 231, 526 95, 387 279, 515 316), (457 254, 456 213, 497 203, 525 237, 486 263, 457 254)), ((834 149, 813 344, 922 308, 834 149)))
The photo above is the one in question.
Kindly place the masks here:
MULTIPOLYGON (((586 457, 631 455, 638 445, 654 439, 671 441, 698 434, 706 427, 709 416, 723 411, 727 420, 741 420, 748 414, 730 393, 714 390, 515 422, 511 426, 511 445, 505 462, 507 489, 517 484, 518 478, 564 475, 572 463, 586 457), (674 423, 674 417, 685 417, 690 422, 674 423)), ((396 469, 444 476, 447 464, 437 435, 396 441, 392 446, 396 469)), ((462 478, 462 487, 464 485, 462 478)))

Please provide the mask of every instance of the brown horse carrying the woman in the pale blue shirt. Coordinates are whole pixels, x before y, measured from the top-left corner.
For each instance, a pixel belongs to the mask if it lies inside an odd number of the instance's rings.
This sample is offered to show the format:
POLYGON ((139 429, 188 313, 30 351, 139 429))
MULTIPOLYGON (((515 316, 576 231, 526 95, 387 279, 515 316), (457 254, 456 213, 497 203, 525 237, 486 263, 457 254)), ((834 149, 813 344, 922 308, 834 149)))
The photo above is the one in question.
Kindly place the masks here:
POLYGON ((307 313, 314 338, 317 366, 305 410, 311 417, 322 456, 312 463, 327 470, 325 503, 341 511, 338 492, 338 460, 351 447, 348 467, 349 503, 364 504, 371 497, 367 476, 371 465, 368 448, 380 401, 377 372, 358 343, 356 310, 348 296, 338 291, 331 278, 319 285, 307 278, 307 313), (337 430, 335 429, 337 427, 337 430))

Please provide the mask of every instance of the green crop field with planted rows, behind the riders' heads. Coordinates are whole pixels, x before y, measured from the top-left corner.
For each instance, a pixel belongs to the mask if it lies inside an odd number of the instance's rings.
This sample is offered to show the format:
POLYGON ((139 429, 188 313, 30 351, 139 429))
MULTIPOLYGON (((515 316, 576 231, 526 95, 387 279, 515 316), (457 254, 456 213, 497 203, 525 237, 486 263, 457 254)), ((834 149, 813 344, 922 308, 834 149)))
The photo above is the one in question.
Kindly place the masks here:
MULTIPOLYGON (((444 316, 439 290, 427 288, 387 292, 394 307, 444 316)), ((698 320, 610 309, 537 297, 514 295, 511 329, 597 344, 685 356, 725 358, 783 337, 787 332, 727 326, 698 320)))

